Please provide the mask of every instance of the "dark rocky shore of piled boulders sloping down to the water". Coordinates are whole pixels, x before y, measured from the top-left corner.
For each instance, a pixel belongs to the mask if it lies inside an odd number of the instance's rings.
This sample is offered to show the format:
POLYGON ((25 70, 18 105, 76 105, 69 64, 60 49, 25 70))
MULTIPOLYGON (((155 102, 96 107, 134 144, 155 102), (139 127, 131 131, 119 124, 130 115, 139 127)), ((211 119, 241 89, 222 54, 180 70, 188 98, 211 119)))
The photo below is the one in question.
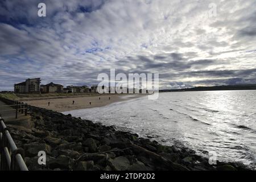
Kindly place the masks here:
POLYGON ((237 163, 217 162, 188 148, 163 146, 118 131, 114 126, 75 118, 55 111, 31 107, 31 130, 10 126, 11 135, 24 150, 30 170, 247 170, 237 163), (46 165, 38 164, 38 152, 45 151, 46 165))

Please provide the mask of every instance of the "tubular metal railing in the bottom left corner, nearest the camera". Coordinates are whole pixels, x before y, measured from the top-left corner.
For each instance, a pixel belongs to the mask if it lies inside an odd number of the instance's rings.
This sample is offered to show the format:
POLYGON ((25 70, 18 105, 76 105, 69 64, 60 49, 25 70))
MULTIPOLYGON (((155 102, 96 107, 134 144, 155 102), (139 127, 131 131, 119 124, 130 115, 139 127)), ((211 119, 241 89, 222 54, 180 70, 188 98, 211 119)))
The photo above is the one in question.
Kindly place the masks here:
POLYGON ((0 122, 1 171, 28 171, 22 158, 23 150, 16 147, 1 114, 0 122))

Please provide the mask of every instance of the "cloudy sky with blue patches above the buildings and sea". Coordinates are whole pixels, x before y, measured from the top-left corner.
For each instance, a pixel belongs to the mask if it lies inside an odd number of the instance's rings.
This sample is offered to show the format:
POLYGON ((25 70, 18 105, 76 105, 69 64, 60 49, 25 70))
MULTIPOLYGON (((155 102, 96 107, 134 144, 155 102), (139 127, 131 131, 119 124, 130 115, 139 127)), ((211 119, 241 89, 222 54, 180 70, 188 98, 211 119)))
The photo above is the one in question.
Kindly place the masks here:
POLYGON ((158 72, 161 88, 256 84, 255 7, 256 0, 2 0, 0 90, 33 77, 90 85, 110 68, 158 72))

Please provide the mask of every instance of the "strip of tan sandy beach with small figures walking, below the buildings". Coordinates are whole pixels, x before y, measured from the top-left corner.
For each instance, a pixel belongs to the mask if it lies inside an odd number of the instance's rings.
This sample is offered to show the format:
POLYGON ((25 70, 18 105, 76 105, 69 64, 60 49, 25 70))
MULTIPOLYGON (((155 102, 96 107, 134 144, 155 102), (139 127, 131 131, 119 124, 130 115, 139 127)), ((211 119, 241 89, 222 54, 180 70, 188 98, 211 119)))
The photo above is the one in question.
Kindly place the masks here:
POLYGON ((84 96, 84 97, 67 97, 56 99, 30 100, 25 101, 27 104, 50 109, 54 111, 69 111, 76 109, 86 109, 92 107, 101 107, 112 104, 114 102, 121 102, 145 96, 144 94, 107 94, 102 96, 84 96), (73 104, 73 101, 75 103, 73 104), (48 102, 50 103, 48 105, 48 102), (91 104, 90 104, 91 102, 91 104))

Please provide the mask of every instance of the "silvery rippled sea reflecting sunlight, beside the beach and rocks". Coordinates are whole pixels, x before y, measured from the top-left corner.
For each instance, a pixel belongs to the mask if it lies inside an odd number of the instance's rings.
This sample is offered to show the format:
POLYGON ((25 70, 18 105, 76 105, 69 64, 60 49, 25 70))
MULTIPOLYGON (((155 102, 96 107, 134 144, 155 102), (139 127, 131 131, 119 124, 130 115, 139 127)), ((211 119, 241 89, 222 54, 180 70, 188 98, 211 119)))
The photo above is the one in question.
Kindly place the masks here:
POLYGON ((63 113, 256 169, 256 90, 166 92, 63 113))

